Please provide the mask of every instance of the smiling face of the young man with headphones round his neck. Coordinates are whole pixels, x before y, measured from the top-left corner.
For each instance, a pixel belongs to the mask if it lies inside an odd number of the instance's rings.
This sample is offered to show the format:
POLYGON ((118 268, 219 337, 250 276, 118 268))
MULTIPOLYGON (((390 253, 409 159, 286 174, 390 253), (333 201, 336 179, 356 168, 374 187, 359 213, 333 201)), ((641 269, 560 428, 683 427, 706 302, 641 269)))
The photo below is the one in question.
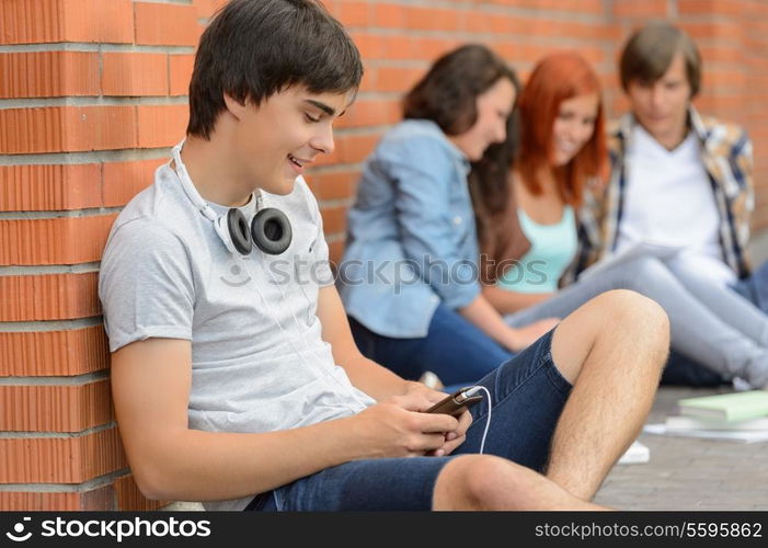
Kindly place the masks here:
POLYGON ((291 87, 262 101, 240 104, 225 96, 237 119, 232 146, 240 175, 272 194, 289 194, 318 155, 334 149, 332 126, 352 102, 348 93, 310 93, 291 87))

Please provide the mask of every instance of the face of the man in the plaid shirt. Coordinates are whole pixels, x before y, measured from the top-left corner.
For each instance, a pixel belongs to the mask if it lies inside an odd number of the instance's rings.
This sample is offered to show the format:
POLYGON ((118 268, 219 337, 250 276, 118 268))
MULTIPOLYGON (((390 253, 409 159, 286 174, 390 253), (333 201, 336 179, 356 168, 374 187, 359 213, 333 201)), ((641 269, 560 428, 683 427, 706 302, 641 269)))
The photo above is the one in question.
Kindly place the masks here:
POLYGON ((691 87, 681 53, 675 54, 669 68, 655 82, 630 81, 627 94, 634 117, 654 139, 668 149, 683 140, 691 87))

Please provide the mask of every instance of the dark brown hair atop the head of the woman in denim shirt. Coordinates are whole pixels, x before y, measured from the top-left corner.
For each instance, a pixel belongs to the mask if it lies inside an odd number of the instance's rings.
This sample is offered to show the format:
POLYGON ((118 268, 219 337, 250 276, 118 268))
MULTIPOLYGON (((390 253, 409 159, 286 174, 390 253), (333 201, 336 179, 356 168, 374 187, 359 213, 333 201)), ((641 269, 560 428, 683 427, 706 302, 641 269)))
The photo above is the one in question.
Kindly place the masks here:
POLYGON ((506 61, 479 44, 443 55, 403 101, 403 117, 431 119, 446 135, 459 135, 478 121, 477 98, 501 78, 519 82, 506 61))

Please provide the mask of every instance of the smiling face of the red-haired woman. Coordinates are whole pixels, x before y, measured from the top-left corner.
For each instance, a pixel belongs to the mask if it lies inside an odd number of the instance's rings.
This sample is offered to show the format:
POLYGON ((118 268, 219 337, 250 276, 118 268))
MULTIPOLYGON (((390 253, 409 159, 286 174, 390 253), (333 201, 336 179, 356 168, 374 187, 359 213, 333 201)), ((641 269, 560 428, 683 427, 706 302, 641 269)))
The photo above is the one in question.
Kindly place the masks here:
POLYGON ((560 103, 552 127, 553 165, 565 165, 589 141, 595 133, 599 107, 597 93, 576 95, 560 103))

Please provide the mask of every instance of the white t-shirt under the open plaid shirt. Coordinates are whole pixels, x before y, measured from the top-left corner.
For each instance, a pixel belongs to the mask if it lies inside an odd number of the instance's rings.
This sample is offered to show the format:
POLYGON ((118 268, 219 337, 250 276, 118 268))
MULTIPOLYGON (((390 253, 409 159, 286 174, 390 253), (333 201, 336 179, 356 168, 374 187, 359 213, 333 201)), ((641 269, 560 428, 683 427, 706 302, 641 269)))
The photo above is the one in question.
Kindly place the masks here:
POLYGON ((617 252, 638 241, 684 248, 678 267, 717 283, 732 283, 735 274, 723 261, 720 216, 696 135, 691 132, 667 150, 640 124, 627 149, 627 191, 619 225, 617 252))

